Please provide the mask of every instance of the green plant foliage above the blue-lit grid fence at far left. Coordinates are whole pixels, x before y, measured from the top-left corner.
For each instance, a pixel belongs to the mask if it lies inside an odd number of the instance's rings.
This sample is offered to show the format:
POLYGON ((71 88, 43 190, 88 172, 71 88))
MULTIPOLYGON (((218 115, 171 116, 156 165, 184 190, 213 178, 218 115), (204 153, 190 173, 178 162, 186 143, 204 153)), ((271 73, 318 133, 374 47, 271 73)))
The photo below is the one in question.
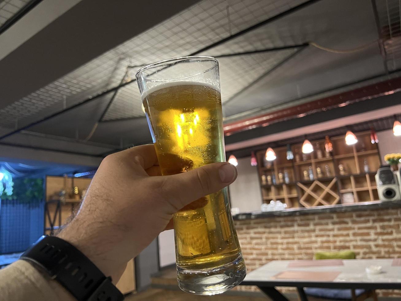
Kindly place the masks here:
POLYGON ((44 187, 42 178, 14 179, 12 195, 2 193, 1 199, 14 199, 20 203, 39 203, 43 200, 44 187))

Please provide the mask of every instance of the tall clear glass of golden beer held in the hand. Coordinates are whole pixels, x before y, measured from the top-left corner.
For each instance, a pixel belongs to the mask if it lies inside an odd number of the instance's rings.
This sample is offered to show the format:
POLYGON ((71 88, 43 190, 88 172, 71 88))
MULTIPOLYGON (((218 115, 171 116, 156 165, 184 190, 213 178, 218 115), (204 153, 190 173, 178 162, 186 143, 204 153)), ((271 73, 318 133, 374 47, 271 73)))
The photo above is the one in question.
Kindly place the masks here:
MULTIPOLYGON (((162 175, 225 162, 219 63, 179 57, 136 73, 162 175)), ((178 286, 214 295, 239 283, 246 268, 228 189, 206 195, 173 216, 178 286)))

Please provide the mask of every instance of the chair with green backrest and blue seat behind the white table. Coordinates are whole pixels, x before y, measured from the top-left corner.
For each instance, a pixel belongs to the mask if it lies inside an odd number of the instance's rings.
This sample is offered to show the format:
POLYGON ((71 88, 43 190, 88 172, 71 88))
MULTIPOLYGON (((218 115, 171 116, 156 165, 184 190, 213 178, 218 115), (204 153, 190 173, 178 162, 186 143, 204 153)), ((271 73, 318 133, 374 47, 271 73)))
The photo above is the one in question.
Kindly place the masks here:
MULTIPOLYGON (((314 259, 355 259, 355 252, 342 251, 342 252, 316 252, 314 259)), ((364 301, 368 298, 373 298, 377 301, 375 290, 365 289, 324 289, 318 287, 304 288, 305 294, 308 296, 309 301, 364 301)))

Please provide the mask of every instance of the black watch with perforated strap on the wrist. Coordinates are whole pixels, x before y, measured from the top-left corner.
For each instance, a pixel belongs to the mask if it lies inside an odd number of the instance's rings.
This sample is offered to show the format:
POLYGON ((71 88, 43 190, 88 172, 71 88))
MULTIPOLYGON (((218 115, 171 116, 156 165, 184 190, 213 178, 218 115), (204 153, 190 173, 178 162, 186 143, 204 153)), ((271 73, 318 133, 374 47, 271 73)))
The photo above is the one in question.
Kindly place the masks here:
POLYGON ((20 259, 41 266, 78 301, 119 301, 123 294, 81 251, 55 236, 42 236, 20 259))

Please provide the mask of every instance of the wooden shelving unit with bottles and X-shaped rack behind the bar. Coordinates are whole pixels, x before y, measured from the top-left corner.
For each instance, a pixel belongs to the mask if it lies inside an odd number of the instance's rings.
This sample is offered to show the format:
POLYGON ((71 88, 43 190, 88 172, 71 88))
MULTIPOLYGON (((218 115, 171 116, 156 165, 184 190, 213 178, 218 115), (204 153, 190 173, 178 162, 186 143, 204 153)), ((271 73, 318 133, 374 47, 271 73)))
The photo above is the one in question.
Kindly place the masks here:
POLYGON ((292 208, 349 203, 350 199, 354 203, 378 200, 375 173, 380 167, 380 157, 377 144, 371 144, 370 132, 355 134, 358 142, 352 146, 345 144, 344 136, 331 137, 333 152, 328 154, 324 139, 311 141, 314 151, 307 155, 301 152, 302 144, 292 145, 293 160, 287 160, 286 147, 274 149, 277 158, 272 162, 265 160, 265 150, 257 152, 263 201, 280 200, 292 208), (344 167, 342 171, 340 164, 344 167), (285 172, 288 183, 285 183, 285 172))

